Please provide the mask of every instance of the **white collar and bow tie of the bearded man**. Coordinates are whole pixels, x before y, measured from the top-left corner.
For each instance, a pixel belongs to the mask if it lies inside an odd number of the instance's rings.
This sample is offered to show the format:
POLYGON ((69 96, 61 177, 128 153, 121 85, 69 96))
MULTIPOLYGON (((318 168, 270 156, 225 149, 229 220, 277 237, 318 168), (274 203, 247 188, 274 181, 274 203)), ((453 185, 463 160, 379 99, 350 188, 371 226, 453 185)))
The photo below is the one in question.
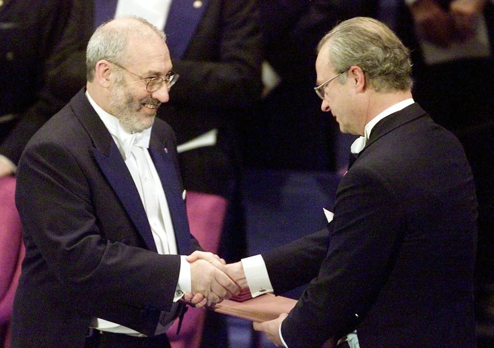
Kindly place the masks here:
POLYGON ((149 148, 152 126, 142 132, 130 133, 125 128, 123 128, 118 118, 110 115, 109 113, 104 111, 98 104, 96 104, 87 90, 85 95, 87 97, 87 100, 89 100, 91 106, 93 106, 94 110, 96 111, 96 114, 98 114, 105 127, 107 127, 108 131, 113 136, 113 139, 115 140, 117 148, 120 151, 123 159, 129 158, 132 145, 146 149, 149 148))

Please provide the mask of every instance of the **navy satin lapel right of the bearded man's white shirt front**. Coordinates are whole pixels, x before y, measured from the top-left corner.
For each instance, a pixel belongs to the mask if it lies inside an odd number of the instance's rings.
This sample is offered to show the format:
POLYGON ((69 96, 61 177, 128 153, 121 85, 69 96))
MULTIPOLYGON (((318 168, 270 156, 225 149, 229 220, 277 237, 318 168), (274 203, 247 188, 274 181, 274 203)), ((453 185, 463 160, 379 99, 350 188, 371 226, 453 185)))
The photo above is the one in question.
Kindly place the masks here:
POLYGON ((161 185, 165 192, 179 254, 189 255, 193 250, 190 242, 187 211, 180 190, 181 185, 178 173, 173 166, 171 155, 166 153, 163 149, 153 145, 149 146, 149 154, 153 159, 154 167, 156 168, 158 176, 160 176, 161 185))

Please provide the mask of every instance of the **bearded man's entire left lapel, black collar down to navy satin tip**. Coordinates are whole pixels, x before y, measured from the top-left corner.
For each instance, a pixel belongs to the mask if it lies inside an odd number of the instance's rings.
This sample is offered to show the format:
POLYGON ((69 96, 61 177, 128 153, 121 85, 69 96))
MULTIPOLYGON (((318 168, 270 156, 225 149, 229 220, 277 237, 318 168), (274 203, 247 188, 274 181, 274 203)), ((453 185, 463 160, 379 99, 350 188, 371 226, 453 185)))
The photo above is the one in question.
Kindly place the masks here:
POLYGON ((87 133, 93 140, 93 154, 99 168, 118 196, 123 209, 127 212, 137 231, 149 250, 156 252, 156 244, 147 219, 146 211, 132 176, 112 136, 100 120, 82 89, 70 101, 73 110, 87 133))

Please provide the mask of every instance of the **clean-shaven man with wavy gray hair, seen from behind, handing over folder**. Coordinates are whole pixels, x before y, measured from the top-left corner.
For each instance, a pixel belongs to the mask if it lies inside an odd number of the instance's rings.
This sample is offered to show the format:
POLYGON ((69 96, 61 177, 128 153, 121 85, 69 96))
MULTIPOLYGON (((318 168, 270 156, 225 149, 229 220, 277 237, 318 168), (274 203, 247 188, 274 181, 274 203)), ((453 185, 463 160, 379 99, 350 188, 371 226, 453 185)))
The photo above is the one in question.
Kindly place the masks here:
POLYGON ((321 108, 360 135, 327 229, 227 265, 257 296, 309 283, 254 328, 277 345, 473 347, 477 202, 458 140, 412 99, 409 51, 382 23, 331 30, 315 63, 321 108))

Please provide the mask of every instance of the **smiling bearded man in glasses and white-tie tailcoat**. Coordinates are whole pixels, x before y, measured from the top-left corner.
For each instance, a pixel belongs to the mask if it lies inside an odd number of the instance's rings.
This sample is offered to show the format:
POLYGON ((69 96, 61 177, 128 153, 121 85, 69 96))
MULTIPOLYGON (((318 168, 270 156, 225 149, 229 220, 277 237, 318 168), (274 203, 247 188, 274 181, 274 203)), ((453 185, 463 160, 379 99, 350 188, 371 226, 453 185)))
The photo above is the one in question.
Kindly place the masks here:
POLYGON ((184 294, 207 305, 238 286, 216 255, 185 258, 199 246, 174 134, 155 119, 178 78, 163 32, 122 17, 95 31, 86 56, 86 87, 19 164, 26 257, 12 346, 167 347, 184 294))

